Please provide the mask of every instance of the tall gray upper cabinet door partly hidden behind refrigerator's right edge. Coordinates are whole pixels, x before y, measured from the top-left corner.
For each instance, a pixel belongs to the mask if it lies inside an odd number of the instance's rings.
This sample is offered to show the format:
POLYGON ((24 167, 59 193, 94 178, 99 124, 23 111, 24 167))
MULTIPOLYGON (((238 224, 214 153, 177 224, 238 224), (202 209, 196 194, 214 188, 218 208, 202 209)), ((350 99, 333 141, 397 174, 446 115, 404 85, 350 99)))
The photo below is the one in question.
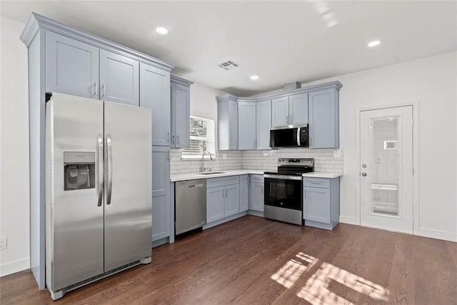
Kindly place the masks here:
POLYGON ((170 73, 140 64, 140 106, 152 110, 152 145, 170 146, 170 73))

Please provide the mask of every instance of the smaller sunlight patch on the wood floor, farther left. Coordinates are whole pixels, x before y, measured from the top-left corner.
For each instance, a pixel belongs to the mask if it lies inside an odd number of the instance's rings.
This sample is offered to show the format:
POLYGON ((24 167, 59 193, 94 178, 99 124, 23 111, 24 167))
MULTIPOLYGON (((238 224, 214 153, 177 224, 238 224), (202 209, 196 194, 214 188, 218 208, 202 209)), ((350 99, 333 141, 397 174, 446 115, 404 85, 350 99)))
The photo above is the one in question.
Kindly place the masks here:
POLYGON ((293 283, 303 274, 303 271, 316 264, 317 261, 313 256, 303 254, 302 252, 298 253, 296 258, 284 264, 276 274, 271 276, 271 279, 286 288, 291 288, 293 283))

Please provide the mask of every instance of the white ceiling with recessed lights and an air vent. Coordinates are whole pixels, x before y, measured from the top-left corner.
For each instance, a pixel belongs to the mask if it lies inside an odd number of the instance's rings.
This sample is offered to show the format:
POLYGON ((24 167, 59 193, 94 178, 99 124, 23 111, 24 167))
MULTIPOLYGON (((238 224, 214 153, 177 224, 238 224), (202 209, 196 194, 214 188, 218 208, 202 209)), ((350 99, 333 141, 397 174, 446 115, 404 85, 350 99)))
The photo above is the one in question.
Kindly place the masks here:
POLYGON ((457 49, 456 1, 1 1, 176 66, 174 74, 251 96, 457 49), (331 15, 328 15, 330 13, 331 15), (336 21, 328 27, 326 18, 336 21), (154 29, 165 26, 169 34, 154 29), (368 49, 373 39, 381 45, 368 49), (241 66, 225 71, 232 59, 241 66), (251 81, 249 76, 259 79, 251 81))

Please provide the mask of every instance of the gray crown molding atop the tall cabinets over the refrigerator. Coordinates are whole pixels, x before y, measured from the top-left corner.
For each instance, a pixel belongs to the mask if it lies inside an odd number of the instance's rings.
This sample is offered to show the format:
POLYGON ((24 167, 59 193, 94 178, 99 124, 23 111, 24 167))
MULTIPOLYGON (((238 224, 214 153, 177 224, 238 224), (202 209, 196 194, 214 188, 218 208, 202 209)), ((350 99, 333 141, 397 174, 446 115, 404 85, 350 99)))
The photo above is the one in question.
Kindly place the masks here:
POLYGON ((58 34, 69 36, 72 39, 83 41, 86 44, 91 44, 92 46, 99 47, 100 49, 113 51, 115 53, 130 57, 131 59, 144 62, 145 64, 150 64, 151 66, 156 66, 160 69, 164 69, 165 71, 171 71, 171 69, 174 68, 173 65, 167 63, 166 61, 156 59, 153 56, 149 56, 134 49, 130 49, 126 46, 122 46, 121 44, 116 44, 113 41, 109 41, 102 37, 81 31, 74 28, 73 26, 61 24, 57 21, 46 18, 45 16, 41 16, 40 14, 36 14, 34 12, 31 13, 29 21, 27 21, 24 31, 20 37, 21 41, 24 42, 27 48, 34 40, 34 37, 38 33, 39 29, 54 31, 58 34))

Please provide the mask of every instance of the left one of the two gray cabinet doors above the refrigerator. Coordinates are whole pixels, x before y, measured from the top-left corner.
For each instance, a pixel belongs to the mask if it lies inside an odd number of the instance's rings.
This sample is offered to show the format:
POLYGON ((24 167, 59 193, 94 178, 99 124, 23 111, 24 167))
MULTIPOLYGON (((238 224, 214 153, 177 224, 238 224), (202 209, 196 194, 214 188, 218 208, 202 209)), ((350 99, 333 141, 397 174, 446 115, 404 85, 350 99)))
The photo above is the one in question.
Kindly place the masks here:
POLYGON ((99 99, 99 48, 47 31, 46 91, 99 99))

